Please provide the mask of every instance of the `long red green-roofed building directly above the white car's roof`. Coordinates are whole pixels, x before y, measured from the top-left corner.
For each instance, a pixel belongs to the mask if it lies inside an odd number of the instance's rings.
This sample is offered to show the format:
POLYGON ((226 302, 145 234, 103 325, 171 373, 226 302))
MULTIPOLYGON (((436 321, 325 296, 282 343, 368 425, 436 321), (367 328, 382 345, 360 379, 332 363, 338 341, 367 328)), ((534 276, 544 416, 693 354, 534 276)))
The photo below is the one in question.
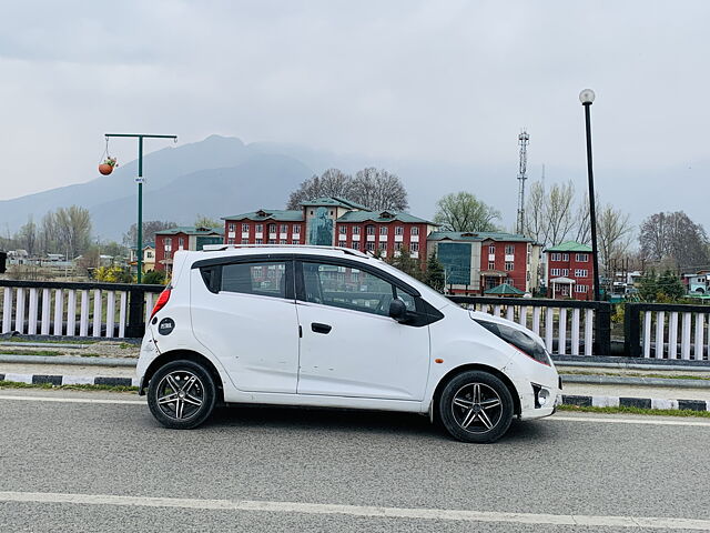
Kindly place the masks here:
POLYGON ((343 198, 318 198, 297 210, 260 209, 224 217, 226 244, 315 244, 426 259, 433 222, 409 213, 369 211, 343 198))

